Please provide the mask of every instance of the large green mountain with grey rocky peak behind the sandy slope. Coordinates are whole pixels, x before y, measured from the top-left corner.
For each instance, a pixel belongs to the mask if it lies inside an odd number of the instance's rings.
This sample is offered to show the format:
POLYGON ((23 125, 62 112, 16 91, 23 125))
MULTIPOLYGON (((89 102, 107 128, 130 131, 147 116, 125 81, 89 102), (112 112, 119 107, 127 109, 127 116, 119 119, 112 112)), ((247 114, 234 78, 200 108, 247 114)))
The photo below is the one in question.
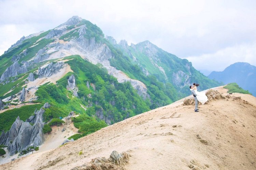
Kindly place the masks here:
MULTIPOLYGON (((53 30, 23 37, 0 56, 0 63, 0 109, 38 103, 28 105, 35 110, 49 103, 45 123, 74 111, 81 114, 73 118, 80 133, 76 137, 171 104, 189 95, 193 82, 200 84, 199 90, 221 85, 187 60, 148 41, 116 44, 113 38, 104 37, 99 27, 77 16, 53 30), (66 66, 72 72, 56 84, 31 85, 46 81, 66 66), (68 88, 69 81, 75 81, 74 88, 68 88), (34 97, 29 98, 33 89, 34 97)), ((33 111, 23 112, 28 106, 1 113, 0 130, 8 130, 11 123, 6 120, 13 121, 18 115, 22 120, 29 118, 33 111)))

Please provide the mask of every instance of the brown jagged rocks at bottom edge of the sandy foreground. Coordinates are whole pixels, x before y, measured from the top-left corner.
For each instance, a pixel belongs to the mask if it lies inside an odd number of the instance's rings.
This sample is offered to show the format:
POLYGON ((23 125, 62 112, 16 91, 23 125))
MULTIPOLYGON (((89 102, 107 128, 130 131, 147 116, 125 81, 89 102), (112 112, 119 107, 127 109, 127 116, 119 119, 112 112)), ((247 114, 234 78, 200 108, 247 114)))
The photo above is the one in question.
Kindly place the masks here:
POLYGON ((95 158, 88 164, 77 166, 71 170, 125 170, 124 166, 129 162, 129 152, 122 152, 118 154, 113 151, 108 159, 105 157, 95 158))

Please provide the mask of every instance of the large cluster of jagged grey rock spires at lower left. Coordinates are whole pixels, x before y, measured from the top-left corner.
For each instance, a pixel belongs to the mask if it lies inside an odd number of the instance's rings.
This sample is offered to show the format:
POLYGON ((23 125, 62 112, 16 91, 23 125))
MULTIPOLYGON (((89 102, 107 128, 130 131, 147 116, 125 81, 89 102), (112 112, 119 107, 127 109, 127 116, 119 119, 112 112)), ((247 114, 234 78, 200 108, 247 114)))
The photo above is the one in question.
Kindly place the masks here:
POLYGON ((6 133, 2 132, 0 144, 8 146, 10 155, 15 154, 16 151, 27 150, 31 145, 39 146, 43 143, 43 114, 45 112, 44 109, 49 107, 50 105, 45 103, 40 110, 35 110, 34 115, 29 117, 26 122, 17 117, 11 129, 6 133))

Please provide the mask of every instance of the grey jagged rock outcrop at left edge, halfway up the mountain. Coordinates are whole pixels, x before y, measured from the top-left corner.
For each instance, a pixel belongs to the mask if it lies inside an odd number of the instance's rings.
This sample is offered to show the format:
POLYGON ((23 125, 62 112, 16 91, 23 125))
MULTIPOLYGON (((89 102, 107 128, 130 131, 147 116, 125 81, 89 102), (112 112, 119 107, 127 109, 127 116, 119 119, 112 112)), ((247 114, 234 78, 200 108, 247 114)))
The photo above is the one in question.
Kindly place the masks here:
POLYGON ((22 66, 19 65, 17 61, 15 61, 10 67, 6 68, 4 73, 1 75, 0 82, 4 81, 6 78, 17 76, 18 74, 27 72, 27 63, 22 66))

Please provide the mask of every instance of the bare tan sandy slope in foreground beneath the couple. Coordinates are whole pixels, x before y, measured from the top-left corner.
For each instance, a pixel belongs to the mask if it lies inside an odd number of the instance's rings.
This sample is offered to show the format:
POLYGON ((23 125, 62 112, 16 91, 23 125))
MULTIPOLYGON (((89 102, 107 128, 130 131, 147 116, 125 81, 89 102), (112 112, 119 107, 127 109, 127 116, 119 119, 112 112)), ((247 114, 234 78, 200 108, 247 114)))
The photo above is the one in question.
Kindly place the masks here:
POLYGON ((200 105, 198 113, 192 105, 183 106, 181 100, 0 169, 71 169, 92 158, 108 158, 113 150, 129 149, 132 157, 125 168, 132 170, 190 169, 189 165, 197 169, 256 169, 256 99, 234 95, 242 100, 212 101, 200 105))

